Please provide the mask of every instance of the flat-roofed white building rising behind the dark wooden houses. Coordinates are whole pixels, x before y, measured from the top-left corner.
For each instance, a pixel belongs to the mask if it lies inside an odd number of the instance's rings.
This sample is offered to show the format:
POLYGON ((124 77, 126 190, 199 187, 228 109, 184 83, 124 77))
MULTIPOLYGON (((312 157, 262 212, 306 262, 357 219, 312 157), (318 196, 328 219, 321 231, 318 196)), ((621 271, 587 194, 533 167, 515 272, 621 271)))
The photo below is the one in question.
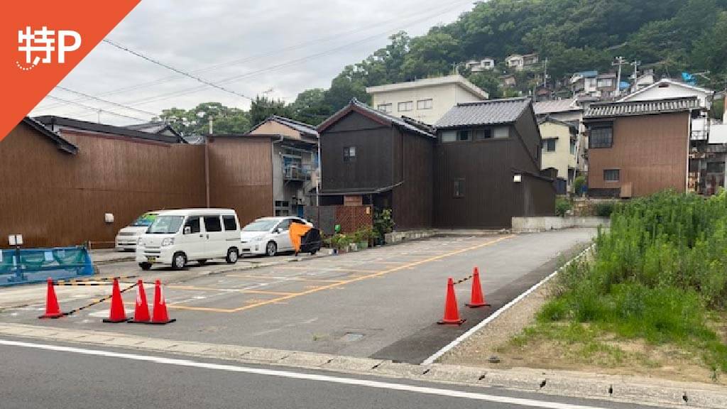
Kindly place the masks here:
POLYGON ((461 75, 417 79, 398 84, 367 87, 372 106, 393 116, 408 116, 425 124, 437 122, 458 103, 489 98, 487 92, 461 75))

